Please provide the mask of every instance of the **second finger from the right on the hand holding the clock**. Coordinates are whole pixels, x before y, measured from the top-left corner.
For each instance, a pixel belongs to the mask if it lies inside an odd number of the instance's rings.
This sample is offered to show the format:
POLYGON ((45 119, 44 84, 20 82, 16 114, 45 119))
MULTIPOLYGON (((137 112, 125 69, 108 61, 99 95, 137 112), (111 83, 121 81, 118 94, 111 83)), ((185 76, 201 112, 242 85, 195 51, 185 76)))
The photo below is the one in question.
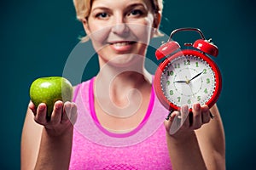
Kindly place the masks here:
POLYGON ((191 127, 193 129, 198 129, 202 125, 201 105, 194 104, 192 108, 192 112, 193 112, 193 121, 192 121, 191 127))

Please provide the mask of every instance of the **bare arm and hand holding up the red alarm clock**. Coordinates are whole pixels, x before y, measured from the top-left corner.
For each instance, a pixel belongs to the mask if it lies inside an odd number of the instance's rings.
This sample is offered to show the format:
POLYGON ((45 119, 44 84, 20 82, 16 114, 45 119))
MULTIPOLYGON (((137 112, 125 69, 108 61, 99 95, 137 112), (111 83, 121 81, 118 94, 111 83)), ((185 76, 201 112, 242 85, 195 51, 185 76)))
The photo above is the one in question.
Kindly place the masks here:
MULTIPOLYGON (((211 112, 215 117, 210 121, 207 105, 199 109, 194 107, 190 117, 193 121, 189 122, 189 116, 186 117, 183 126, 174 134, 170 134, 169 129, 178 113, 174 112, 166 122, 166 138, 173 169, 225 168, 224 131, 222 123, 219 123, 220 116, 216 105, 211 112)), ((183 113, 181 116, 183 119, 183 113)))

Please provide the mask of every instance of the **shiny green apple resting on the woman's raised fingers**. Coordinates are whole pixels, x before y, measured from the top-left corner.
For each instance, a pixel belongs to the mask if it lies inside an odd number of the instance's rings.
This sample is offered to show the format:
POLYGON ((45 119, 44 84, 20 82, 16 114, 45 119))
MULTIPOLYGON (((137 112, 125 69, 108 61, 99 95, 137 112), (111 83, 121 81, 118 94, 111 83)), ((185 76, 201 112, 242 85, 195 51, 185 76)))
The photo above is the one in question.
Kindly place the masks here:
POLYGON ((66 102, 73 99, 73 86, 64 77, 40 77, 32 82, 29 94, 36 107, 40 103, 47 105, 49 119, 57 100, 66 102))

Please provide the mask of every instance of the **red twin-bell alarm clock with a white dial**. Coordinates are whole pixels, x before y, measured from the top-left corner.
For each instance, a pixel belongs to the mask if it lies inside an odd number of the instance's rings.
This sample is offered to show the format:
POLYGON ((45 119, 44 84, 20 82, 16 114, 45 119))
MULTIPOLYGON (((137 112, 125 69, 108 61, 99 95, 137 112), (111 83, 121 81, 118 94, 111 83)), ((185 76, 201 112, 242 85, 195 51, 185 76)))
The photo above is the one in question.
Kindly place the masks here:
POLYGON ((180 28, 172 31, 169 40, 155 52, 157 59, 165 58, 157 68, 154 77, 155 93, 160 103, 170 112, 194 103, 214 105, 222 88, 218 65, 209 57, 217 57, 218 48, 212 40, 206 40, 200 29, 180 28), (201 39, 185 43, 185 49, 172 41, 178 31, 196 31, 201 39))

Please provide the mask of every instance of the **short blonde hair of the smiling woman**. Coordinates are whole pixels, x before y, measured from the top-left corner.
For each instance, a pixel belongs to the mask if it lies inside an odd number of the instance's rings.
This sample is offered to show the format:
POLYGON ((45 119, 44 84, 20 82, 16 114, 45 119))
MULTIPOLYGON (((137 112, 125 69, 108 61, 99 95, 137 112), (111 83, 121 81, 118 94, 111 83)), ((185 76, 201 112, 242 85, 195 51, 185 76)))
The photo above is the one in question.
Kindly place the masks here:
MULTIPOLYGON (((93 0, 73 0, 73 4, 77 14, 77 19, 79 21, 82 22, 84 19, 87 19, 89 17, 92 2, 93 0)), ((157 13, 162 14, 163 0, 150 0, 150 2, 152 3, 154 14, 157 14, 157 13)), ((158 20, 158 19, 154 19, 154 20, 158 20)), ((154 37, 159 37, 159 36, 162 36, 162 34, 160 33, 160 30, 157 28, 157 30, 154 33, 154 37)), ((81 38, 83 42, 87 41, 88 39, 89 37, 81 38)))

